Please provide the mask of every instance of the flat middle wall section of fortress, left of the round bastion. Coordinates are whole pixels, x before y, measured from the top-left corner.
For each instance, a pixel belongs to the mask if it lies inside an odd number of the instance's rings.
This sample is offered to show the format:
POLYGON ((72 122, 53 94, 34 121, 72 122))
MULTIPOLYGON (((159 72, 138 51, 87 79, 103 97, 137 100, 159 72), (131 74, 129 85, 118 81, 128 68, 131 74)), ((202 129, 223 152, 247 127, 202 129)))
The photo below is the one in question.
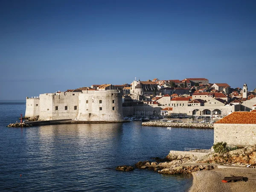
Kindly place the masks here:
POLYGON ((78 98, 79 92, 41 94, 39 120, 76 119, 79 111, 78 98))

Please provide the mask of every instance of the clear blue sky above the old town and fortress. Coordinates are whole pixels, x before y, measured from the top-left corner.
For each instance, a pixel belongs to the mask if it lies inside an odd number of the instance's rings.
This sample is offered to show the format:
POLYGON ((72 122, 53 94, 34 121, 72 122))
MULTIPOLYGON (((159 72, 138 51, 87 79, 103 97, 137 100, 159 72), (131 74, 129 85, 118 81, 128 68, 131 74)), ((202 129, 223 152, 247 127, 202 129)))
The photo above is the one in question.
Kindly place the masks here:
POLYGON ((1 0, 0 100, 207 78, 256 88, 255 0, 1 0))

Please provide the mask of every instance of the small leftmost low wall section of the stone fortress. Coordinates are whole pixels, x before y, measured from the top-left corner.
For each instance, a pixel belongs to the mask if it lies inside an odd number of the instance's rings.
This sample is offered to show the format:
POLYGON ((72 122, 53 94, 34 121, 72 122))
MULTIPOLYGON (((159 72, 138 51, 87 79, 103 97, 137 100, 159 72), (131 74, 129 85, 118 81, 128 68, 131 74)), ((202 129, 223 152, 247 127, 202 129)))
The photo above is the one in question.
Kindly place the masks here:
POLYGON ((37 116, 40 113, 39 98, 26 98, 25 117, 37 116))

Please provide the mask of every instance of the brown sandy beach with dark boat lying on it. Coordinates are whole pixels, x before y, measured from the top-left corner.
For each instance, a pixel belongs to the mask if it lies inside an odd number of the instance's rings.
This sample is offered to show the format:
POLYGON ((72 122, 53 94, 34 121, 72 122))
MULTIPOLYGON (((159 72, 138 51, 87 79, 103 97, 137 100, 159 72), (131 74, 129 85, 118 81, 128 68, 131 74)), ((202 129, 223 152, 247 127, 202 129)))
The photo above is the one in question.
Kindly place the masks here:
POLYGON ((193 182, 189 192, 255 192, 256 169, 215 168, 209 171, 193 172, 193 182), (242 176, 247 181, 222 183, 224 177, 242 176))

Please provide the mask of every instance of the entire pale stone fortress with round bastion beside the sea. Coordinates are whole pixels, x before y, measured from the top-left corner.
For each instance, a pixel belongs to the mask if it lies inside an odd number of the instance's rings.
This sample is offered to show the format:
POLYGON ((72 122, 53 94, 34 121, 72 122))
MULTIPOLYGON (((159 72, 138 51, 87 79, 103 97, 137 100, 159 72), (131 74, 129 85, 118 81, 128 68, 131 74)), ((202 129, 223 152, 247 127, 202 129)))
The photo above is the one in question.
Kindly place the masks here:
POLYGON ((119 90, 71 90, 26 98, 25 117, 42 120, 121 122, 122 93, 119 90))

